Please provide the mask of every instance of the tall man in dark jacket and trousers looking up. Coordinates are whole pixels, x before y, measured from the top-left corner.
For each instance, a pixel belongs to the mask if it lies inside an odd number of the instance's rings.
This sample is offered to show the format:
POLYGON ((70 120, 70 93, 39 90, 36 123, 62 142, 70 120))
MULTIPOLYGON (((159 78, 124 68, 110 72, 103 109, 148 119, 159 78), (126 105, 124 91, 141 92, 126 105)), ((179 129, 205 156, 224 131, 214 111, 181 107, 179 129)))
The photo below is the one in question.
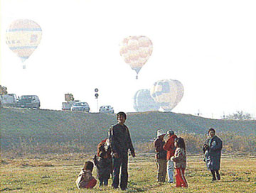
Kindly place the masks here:
POLYGON ((113 184, 112 187, 118 188, 119 185, 119 172, 121 169, 121 182, 120 187, 122 190, 127 189, 128 182, 128 150, 131 151, 132 157, 135 157, 134 147, 132 145, 129 129, 124 122, 127 116, 124 112, 117 114, 117 124, 110 128, 110 146, 113 154, 113 184))

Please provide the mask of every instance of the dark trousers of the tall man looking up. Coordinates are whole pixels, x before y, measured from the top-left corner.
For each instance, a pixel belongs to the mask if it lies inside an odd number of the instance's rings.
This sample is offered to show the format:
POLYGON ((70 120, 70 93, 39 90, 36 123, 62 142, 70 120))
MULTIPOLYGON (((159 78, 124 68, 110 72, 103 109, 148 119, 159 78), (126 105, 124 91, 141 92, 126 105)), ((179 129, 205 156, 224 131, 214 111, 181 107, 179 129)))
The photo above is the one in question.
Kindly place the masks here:
POLYGON ((113 174, 113 184, 114 188, 119 185, 119 173, 121 167, 121 189, 127 188, 128 181, 128 155, 127 153, 118 154, 119 158, 114 158, 114 174, 113 174))

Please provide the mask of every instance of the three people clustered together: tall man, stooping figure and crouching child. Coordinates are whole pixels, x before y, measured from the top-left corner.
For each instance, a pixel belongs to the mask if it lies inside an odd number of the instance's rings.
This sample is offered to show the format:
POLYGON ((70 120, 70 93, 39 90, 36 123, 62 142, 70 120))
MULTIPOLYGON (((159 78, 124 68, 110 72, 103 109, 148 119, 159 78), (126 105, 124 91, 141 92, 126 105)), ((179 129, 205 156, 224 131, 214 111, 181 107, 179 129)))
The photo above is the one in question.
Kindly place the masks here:
MULTIPOLYGON (((97 178, 100 181, 100 187, 102 185, 107 186, 110 175, 112 175, 112 187, 117 189, 120 185, 122 190, 127 190, 128 150, 133 157, 135 157, 135 151, 129 128, 124 125, 126 119, 127 115, 124 112, 119 112, 117 114, 117 124, 110 128, 109 138, 102 140, 97 146, 97 156, 95 155, 93 161, 97 168, 97 178), (120 172, 121 179, 119 180, 120 172)), ((88 165, 93 166, 93 162, 85 162, 76 180, 78 189, 92 188, 97 183, 95 177, 92 177, 93 167, 88 167, 88 165)))

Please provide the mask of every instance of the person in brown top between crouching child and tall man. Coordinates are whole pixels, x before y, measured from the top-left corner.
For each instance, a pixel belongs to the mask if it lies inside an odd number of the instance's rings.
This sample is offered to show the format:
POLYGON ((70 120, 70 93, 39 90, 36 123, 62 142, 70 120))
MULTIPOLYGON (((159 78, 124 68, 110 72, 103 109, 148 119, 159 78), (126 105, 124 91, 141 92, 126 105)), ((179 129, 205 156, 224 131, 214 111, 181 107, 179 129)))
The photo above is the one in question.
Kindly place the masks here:
POLYGON ((112 156, 108 139, 102 140, 97 147, 97 156, 93 159, 97 167, 97 178, 100 180, 100 187, 107 186, 110 174, 112 173, 112 156), (98 158, 97 158, 98 157, 98 158))

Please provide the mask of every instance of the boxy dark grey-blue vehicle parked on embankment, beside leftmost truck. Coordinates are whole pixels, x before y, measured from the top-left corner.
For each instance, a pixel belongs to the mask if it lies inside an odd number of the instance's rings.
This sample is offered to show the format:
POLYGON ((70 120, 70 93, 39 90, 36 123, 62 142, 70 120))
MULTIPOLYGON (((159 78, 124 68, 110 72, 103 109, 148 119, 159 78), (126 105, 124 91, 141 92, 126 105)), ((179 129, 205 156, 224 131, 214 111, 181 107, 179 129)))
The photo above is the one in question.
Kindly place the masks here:
POLYGON ((36 95, 22 95, 16 104, 17 107, 39 109, 40 100, 36 95))

